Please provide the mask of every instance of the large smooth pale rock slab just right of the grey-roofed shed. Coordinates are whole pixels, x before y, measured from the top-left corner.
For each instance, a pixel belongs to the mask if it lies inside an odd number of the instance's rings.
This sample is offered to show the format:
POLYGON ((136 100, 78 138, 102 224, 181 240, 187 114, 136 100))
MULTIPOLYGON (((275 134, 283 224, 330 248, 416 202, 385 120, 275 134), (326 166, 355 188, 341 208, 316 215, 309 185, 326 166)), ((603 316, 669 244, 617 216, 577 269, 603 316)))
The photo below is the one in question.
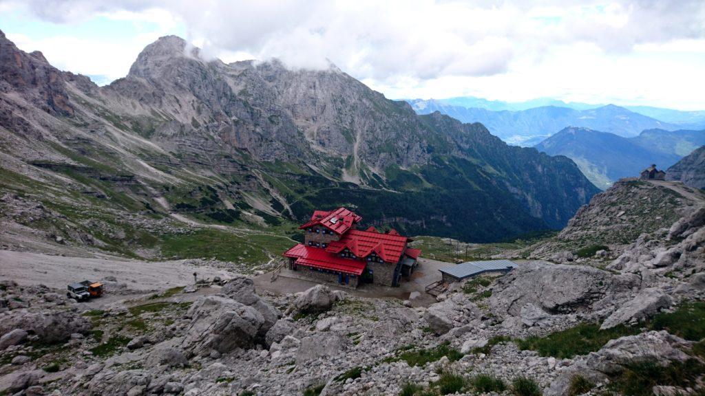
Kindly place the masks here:
POLYGON ((502 318, 520 316, 527 304, 548 314, 570 314, 592 311, 599 302, 605 304, 601 300, 611 297, 615 288, 630 286, 598 268, 534 261, 499 278, 489 305, 502 318))

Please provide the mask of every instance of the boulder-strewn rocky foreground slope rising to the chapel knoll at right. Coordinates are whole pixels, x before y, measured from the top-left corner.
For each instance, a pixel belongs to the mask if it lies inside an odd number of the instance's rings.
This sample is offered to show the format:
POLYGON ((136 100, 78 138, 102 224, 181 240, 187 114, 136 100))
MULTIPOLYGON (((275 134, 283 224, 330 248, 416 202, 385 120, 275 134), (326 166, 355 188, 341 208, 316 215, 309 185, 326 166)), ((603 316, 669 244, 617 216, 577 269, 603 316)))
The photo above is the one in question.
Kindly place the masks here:
POLYGON ((703 207, 701 192, 680 183, 624 180, 557 240, 532 249, 551 254, 567 240, 608 233, 636 235, 632 242, 453 284, 429 307, 321 285, 258 293, 235 273, 224 285, 126 294, 99 306, 6 280, 0 392, 697 395, 705 375, 703 207), (641 212, 617 216, 626 207, 641 212))

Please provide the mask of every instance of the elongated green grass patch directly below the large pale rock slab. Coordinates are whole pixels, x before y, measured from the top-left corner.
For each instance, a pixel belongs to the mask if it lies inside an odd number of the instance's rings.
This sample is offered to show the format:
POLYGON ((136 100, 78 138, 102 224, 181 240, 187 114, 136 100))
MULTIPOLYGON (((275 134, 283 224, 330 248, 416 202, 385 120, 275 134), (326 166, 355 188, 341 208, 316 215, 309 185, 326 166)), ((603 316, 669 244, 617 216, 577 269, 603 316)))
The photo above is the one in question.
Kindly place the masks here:
POLYGON ((551 333, 543 338, 532 336, 525 340, 515 340, 515 342, 520 349, 532 349, 544 357, 566 359, 594 352, 609 340, 637 333, 639 333, 638 329, 625 326, 600 330, 599 324, 580 323, 573 328, 551 333))

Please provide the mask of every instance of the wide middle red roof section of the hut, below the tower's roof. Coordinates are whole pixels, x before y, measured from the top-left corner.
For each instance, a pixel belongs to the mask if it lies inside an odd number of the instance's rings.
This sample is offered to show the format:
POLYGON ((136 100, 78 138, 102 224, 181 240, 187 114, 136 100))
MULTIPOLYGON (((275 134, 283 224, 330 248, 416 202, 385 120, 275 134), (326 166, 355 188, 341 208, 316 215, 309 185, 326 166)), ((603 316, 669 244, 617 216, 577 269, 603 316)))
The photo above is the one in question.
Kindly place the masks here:
POLYGON ((389 235, 362 230, 350 230, 340 240, 331 242, 326 251, 331 253, 342 252, 346 247, 355 256, 367 257, 375 252, 384 261, 396 263, 404 253, 407 237, 389 235))

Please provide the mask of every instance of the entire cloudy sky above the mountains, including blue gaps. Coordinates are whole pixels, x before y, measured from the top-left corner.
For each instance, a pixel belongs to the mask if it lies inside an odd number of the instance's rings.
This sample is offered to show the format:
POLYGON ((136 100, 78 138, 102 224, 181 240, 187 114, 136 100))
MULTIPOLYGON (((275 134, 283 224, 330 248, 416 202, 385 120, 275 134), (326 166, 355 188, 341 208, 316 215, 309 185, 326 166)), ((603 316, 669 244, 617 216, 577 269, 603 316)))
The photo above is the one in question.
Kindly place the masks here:
POLYGON ((705 110, 705 0, 0 0, 0 29, 99 84, 173 34, 223 61, 330 60, 392 99, 705 110))

